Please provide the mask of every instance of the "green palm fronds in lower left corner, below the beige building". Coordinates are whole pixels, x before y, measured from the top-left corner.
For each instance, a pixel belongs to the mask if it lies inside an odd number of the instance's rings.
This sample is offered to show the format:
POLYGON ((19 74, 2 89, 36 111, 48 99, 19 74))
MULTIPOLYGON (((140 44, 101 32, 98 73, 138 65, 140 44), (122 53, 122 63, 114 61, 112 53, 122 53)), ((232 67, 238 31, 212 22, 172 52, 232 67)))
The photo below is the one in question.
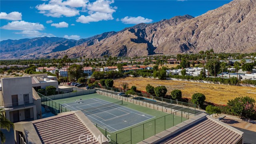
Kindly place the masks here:
POLYGON ((1 143, 4 143, 6 138, 4 135, 4 132, 2 130, 7 130, 10 132, 11 128, 14 128, 14 124, 8 120, 5 116, 5 110, 4 108, 0 108, 0 138, 1 138, 1 143))

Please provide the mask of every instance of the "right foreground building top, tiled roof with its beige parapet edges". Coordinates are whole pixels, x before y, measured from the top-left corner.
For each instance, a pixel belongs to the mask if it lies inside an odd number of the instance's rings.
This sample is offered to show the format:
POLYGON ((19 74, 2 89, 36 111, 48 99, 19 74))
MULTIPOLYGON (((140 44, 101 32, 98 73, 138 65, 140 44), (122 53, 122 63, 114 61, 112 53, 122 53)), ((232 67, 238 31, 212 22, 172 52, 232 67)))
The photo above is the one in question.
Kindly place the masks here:
POLYGON ((138 144, 243 144, 243 134, 202 113, 138 144))

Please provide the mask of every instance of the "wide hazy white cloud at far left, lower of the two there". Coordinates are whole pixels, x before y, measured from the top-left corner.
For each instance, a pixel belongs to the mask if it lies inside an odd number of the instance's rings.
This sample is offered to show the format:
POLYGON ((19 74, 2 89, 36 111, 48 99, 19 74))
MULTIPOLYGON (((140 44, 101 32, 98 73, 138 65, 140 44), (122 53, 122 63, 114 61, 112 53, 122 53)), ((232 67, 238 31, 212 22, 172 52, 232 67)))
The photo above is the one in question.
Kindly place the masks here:
POLYGON ((44 25, 40 23, 13 21, 1 27, 6 30, 44 30, 44 25))

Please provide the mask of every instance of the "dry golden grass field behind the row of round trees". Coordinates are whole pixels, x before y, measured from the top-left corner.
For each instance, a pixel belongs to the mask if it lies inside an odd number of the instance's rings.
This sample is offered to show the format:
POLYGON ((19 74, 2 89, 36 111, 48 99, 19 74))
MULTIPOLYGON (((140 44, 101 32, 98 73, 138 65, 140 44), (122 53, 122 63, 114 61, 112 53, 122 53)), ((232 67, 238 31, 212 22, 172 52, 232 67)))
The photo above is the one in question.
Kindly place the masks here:
POLYGON ((136 86, 137 90, 142 91, 146 91, 147 84, 152 86, 166 86, 168 90, 167 94, 170 94, 174 89, 179 89, 182 91, 182 96, 184 98, 191 98, 194 93, 200 92, 206 96, 206 101, 215 104, 226 104, 228 100, 238 96, 250 96, 256 100, 256 88, 252 87, 132 77, 116 79, 114 80, 114 86, 120 87, 123 82, 127 82, 129 88, 131 86, 136 86))

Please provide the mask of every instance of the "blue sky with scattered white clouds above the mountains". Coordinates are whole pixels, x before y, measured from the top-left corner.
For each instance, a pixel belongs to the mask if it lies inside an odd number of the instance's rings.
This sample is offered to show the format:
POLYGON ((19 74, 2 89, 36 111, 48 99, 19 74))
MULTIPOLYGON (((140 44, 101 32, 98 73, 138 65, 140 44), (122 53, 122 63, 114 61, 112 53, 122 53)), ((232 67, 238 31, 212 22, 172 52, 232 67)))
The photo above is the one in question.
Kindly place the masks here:
POLYGON ((87 38, 137 23, 199 16, 229 0, 0 0, 0 40, 87 38), (48 21, 48 22, 46 22, 48 21))

